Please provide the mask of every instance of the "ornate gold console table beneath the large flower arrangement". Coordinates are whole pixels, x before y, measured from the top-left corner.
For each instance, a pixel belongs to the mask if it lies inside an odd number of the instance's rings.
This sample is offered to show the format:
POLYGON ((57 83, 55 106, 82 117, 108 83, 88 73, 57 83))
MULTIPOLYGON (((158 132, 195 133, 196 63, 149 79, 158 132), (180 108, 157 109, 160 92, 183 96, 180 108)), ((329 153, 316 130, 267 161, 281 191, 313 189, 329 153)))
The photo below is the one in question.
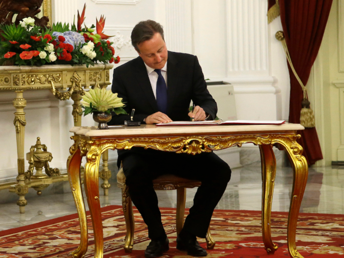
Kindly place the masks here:
MULTIPOLYGON (((25 171, 24 138, 27 122, 24 108, 27 105, 27 101, 24 98, 24 91, 49 89, 59 100, 72 98, 74 101, 72 112, 74 125, 81 126, 80 113, 82 109, 80 101, 82 95, 85 94, 84 89, 93 86, 106 87, 110 85, 110 69, 112 68, 112 64, 95 64, 88 68, 86 65, 0 66, 0 91, 14 91, 16 93, 13 106, 16 109, 14 113, 14 126, 18 155, 16 184, 13 185, 13 182, 4 183, 0 185, 0 190, 9 188, 10 192, 15 192, 19 195, 17 204, 20 207, 20 213, 25 212, 25 205, 28 204, 28 201, 25 200, 25 195, 29 192, 29 187, 43 189, 44 186, 46 187, 51 183, 68 180, 66 174, 59 173, 54 174, 54 176, 46 175, 31 178, 32 169, 28 172, 25 171)), ((111 172, 107 168, 107 153, 104 153, 103 160, 104 169, 101 172, 101 178, 104 180, 104 183, 102 187, 104 188, 104 194, 107 195, 108 188, 110 187, 108 179, 111 177, 111 172)), ((40 191, 37 193, 40 194, 40 191)))

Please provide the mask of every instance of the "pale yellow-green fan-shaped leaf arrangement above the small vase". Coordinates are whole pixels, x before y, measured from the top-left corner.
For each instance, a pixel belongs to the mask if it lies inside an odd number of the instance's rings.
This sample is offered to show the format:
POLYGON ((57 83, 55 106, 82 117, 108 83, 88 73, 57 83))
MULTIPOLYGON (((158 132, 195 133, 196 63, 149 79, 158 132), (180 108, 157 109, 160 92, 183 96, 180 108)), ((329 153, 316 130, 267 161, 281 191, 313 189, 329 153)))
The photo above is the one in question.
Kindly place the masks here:
POLYGON ((106 90, 105 88, 94 88, 90 89, 83 96, 83 100, 80 101, 84 115, 93 113, 93 112, 105 112, 110 114, 115 112, 118 114, 127 114, 123 107, 122 98, 117 97, 117 93, 112 93, 111 90, 106 90))

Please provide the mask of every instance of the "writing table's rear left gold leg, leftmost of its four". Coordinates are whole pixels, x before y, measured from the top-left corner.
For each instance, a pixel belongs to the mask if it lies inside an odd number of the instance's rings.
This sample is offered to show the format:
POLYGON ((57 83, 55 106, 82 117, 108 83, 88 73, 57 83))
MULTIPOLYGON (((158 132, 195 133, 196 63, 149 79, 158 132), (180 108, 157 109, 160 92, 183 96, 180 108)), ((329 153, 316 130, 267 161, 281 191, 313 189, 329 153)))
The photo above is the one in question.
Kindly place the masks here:
POLYGON ((87 251, 87 219, 80 178, 81 160, 82 156, 80 155, 80 149, 78 148, 71 156, 69 156, 67 161, 68 179, 72 189, 75 206, 78 210, 81 231, 80 245, 78 249, 72 253, 73 258, 82 258, 87 251))

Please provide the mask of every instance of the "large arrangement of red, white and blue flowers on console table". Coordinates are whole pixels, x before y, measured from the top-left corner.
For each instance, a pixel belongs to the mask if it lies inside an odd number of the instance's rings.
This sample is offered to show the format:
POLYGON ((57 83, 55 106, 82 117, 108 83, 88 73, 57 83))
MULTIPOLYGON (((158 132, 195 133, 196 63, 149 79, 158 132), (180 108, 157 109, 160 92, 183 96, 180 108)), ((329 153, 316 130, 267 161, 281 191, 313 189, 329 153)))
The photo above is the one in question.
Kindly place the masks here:
POLYGON ((24 18, 18 26, 0 27, 0 65, 118 63, 111 36, 103 33, 105 18, 96 19, 96 27, 82 28, 86 4, 77 25, 53 24, 51 28, 34 25, 34 19, 24 18), (95 28, 95 29, 94 29, 95 28), (95 33, 96 30, 96 33, 95 33))

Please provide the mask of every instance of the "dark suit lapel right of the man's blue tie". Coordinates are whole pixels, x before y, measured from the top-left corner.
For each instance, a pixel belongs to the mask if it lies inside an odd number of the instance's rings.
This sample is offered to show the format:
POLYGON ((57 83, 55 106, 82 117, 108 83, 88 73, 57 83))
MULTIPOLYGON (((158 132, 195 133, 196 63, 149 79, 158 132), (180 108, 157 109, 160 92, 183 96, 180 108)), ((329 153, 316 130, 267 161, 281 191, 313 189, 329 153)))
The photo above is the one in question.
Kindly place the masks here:
POLYGON ((177 93, 178 87, 178 68, 177 60, 175 59, 172 52, 168 52, 168 61, 167 61, 167 108, 168 113, 172 108, 173 100, 177 93))

